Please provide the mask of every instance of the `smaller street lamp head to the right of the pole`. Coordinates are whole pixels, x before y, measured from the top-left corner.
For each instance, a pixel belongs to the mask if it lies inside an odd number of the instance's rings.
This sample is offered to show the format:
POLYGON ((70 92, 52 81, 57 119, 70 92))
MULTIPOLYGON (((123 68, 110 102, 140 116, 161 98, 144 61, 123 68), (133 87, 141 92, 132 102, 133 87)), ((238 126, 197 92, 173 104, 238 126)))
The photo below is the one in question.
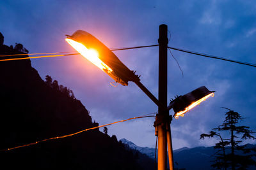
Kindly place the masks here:
POLYGON ((173 101, 173 111, 175 112, 174 117, 177 119, 184 117, 184 114, 205 101, 210 96, 214 96, 214 91, 209 91, 205 86, 199 87, 198 89, 185 94, 184 96, 179 96, 173 101))

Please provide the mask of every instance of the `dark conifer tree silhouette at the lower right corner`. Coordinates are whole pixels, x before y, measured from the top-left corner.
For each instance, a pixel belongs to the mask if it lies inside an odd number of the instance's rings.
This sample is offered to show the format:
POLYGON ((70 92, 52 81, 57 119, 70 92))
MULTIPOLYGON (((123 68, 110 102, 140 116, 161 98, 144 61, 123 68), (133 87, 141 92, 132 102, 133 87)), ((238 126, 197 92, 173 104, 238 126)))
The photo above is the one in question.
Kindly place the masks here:
POLYGON ((227 169, 232 167, 234 169, 246 169, 248 166, 256 166, 254 154, 250 152, 255 151, 254 148, 246 148, 246 146, 239 146, 243 140, 256 139, 252 134, 255 132, 250 130, 248 126, 239 126, 239 122, 244 118, 233 110, 225 108, 226 112, 225 120, 223 124, 212 129, 209 134, 201 134, 200 139, 218 137, 219 143, 216 143, 214 148, 218 149, 215 153, 215 160, 212 167, 217 169, 227 169), (216 132, 218 131, 218 132, 216 132), (229 132, 230 138, 223 138, 220 132, 229 132))

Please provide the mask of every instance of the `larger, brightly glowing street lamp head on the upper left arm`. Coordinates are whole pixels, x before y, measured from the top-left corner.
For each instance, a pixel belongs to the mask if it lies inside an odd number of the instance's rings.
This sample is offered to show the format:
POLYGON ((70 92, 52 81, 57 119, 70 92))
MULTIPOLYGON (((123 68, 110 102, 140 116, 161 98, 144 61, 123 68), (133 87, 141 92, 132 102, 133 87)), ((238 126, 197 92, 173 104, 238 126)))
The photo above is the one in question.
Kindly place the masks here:
POLYGON ((99 39, 86 31, 77 30, 72 36, 67 36, 66 41, 83 57, 90 60, 113 78, 117 83, 128 85, 128 81, 140 80, 111 52, 99 39))

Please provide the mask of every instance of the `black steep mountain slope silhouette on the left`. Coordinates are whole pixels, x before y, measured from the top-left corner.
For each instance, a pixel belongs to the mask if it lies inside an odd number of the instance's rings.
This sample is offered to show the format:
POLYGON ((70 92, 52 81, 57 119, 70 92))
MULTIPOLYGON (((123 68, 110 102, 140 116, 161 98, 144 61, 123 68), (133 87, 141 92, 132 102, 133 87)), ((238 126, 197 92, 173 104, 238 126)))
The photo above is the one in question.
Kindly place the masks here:
MULTIPOLYGON (((17 48, 6 46, 2 37, 0 55, 28 57, 26 48, 20 44, 17 48)), ((7 58, 10 57, 1 57, 7 58)), ((3 151, 99 124, 92 122, 88 110, 74 97, 72 90, 58 85, 57 80, 55 83, 42 80, 29 59, 0 62, 0 89, 1 169, 147 168, 136 153, 117 141, 116 136, 110 137, 99 129, 3 151)), ((153 162, 149 158, 147 161, 153 162)))

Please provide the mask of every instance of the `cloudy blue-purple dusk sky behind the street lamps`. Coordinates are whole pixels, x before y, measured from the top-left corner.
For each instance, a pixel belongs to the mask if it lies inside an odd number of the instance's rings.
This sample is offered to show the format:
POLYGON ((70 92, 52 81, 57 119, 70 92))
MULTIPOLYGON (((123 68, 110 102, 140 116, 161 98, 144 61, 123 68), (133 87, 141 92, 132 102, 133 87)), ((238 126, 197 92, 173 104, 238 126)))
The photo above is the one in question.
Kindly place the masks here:
MULTIPOLYGON (((0 2, 0 32, 4 44, 22 43, 29 53, 74 51, 65 34, 81 29, 109 48, 157 44, 159 25, 168 25, 169 46, 256 63, 256 2, 230 1, 7 1, 0 2)), ((172 122, 173 149, 212 146, 199 140, 220 125, 221 107, 241 113, 244 125, 256 130, 256 69, 172 50, 168 53, 168 99, 205 85, 216 94, 184 117, 172 122)), ((158 47, 115 52, 141 75, 141 82, 157 97, 158 47)), ((81 55, 31 59, 44 79, 47 74, 70 87, 100 125, 157 111, 157 106, 130 82, 113 80, 81 55)), ((173 111, 170 111, 173 114, 173 111)), ((111 125, 109 134, 138 146, 154 147, 154 118, 111 125)), ((253 141, 248 141, 253 143, 253 141)))

